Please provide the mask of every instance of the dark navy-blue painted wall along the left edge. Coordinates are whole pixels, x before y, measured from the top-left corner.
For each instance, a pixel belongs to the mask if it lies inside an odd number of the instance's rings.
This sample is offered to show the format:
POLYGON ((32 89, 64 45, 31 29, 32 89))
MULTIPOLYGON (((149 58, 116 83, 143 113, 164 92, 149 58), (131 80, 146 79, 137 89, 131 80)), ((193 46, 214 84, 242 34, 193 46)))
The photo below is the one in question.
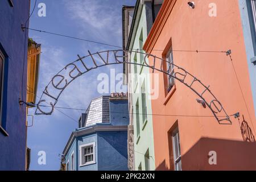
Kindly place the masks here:
POLYGON ((29 10, 29 0, 13 0, 14 7, 7 0, 0 1, 0 48, 6 53, 5 82, 3 96, 3 127, 9 137, 0 131, 0 170, 24 170, 26 154, 26 107, 19 106, 19 97, 23 90, 26 100, 27 80, 27 39, 24 62, 24 85, 22 68, 24 56, 24 40, 27 32, 21 30, 21 24, 26 22, 29 10))

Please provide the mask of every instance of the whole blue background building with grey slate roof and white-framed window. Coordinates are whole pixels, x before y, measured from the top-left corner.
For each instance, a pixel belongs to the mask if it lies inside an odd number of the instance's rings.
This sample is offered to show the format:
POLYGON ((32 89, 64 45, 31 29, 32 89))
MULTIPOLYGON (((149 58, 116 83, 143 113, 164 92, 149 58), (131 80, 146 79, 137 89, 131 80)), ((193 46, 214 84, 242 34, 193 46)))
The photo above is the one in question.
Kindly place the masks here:
POLYGON ((64 148, 65 170, 128 170, 127 125, 127 94, 92 100, 64 148))

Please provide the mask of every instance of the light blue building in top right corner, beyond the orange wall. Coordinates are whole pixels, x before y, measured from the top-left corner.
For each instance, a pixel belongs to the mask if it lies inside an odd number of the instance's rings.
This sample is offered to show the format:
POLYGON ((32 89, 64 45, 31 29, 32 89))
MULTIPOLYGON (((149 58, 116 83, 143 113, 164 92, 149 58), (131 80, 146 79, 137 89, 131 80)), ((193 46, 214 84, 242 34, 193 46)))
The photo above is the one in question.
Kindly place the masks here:
MULTIPOLYGON (((247 64, 249 67, 251 92, 256 108, 256 1, 239 0, 247 64)), ((255 115, 256 115, 256 109, 255 115)))

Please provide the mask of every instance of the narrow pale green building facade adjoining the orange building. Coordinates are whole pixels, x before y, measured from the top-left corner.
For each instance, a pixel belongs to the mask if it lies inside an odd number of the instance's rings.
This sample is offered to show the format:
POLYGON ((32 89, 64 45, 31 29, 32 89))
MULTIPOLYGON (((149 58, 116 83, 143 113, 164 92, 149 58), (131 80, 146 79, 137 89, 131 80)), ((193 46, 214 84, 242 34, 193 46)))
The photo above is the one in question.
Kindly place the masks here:
MULTIPOLYGON (((154 140, 150 101, 149 70, 143 65, 143 44, 152 27, 162 1, 137 1, 129 36, 124 36, 126 49, 134 51, 129 59, 134 64, 125 64, 124 72, 129 88, 130 123, 128 153, 130 170, 154 170, 154 140)), ((127 32, 127 31, 125 31, 127 32)))

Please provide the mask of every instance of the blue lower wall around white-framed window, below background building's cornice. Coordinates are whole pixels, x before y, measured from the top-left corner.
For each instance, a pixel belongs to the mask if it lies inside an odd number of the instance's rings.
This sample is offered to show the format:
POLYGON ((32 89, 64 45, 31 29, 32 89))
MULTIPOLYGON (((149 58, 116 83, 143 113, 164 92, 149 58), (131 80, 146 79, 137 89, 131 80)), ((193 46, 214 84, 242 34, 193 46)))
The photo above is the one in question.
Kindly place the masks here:
POLYGON ((71 155, 74 152, 75 171, 127 171, 127 131, 98 131, 75 138, 65 157, 71 171, 71 155), (79 146, 95 142, 96 163, 80 167, 79 146))

